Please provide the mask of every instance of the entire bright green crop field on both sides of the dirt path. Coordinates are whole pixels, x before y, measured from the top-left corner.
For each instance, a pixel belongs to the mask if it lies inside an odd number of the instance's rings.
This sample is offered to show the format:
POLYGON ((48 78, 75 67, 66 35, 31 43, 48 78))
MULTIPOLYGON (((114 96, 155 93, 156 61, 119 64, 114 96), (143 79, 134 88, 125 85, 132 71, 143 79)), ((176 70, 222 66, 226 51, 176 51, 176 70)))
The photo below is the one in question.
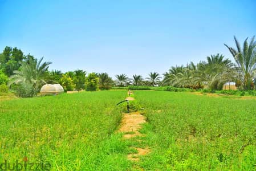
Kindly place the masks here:
POLYGON ((135 91, 147 117, 145 136, 123 140, 116 133, 123 107, 116 104, 126 96, 99 91, 0 101, 0 161, 27 158, 52 170, 256 169, 256 100, 135 91), (151 152, 129 161, 131 145, 151 152))

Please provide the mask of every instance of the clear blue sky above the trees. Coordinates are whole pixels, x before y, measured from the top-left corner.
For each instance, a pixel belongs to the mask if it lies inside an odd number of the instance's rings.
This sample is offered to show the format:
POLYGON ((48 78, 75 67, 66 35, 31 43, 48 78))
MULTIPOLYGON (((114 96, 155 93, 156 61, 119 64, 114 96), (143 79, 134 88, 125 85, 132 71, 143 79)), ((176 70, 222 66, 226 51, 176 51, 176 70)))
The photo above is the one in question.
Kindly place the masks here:
POLYGON ((21 48, 50 69, 163 74, 256 35, 256 1, 0 0, 0 50, 21 48))

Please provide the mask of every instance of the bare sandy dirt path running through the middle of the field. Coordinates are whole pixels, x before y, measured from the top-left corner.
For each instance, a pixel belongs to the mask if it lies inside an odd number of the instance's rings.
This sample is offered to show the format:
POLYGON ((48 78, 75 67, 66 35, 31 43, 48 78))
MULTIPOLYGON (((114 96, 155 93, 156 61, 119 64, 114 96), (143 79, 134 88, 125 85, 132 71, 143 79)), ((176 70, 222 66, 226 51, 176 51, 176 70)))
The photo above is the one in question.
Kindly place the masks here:
MULTIPOLYGON (((133 97, 127 97, 125 100, 135 100, 133 97)), ((121 125, 118 132, 123 132, 124 139, 131 139, 137 136, 145 136, 139 132, 141 129, 141 124, 146 123, 146 118, 141 114, 141 112, 132 112, 132 113, 124 113, 123 119, 121 121, 121 125)), ((136 149, 137 153, 128 154, 127 158, 131 161, 139 161, 140 156, 147 155, 150 152, 149 148, 138 148, 135 146, 131 146, 130 148, 136 149)))

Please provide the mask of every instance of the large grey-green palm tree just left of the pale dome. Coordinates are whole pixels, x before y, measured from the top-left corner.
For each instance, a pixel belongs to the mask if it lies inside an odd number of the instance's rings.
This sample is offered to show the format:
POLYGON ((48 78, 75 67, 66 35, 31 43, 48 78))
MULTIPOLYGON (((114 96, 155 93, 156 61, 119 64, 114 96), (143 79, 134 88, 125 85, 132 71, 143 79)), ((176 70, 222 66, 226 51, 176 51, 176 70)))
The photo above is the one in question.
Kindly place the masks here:
POLYGON ((28 83, 31 84, 34 91, 38 92, 42 84, 45 84, 46 74, 51 62, 43 62, 43 58, 37 60, 30 58, 26 62, 22 62, 20 70, 14 71, 14 75, 10 77, 9 86, 11 84, 28 83))

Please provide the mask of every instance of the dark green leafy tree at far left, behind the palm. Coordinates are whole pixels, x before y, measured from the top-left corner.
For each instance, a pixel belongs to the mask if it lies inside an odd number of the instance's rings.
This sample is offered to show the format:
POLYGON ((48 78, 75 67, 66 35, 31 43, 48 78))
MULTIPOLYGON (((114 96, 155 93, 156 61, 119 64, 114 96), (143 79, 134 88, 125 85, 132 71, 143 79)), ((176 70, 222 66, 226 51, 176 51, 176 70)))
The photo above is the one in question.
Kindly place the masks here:
POLYGON ((2 54, 0 54, 0 70, 10 77, 14 74, 15 70, 21 67, 23 59, 25 59, 25 56, 21 50, 17 47, 11 48, 6 46, 2 54))

